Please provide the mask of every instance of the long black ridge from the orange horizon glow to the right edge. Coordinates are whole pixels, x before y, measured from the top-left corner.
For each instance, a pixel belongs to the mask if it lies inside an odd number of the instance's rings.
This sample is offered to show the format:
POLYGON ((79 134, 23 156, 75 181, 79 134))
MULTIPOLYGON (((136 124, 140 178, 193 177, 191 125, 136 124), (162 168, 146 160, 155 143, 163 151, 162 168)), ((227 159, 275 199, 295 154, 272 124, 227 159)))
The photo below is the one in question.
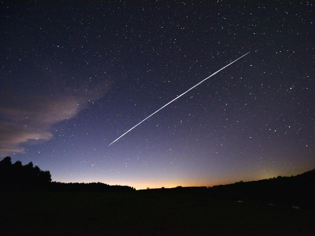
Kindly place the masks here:
POLYGON ((297 206, 315 210, 315 169, 291 177, 236 182, 213 187, 155 188, 139 190, 142 194, 192 194, 199 199, 226 201, 262 201, 269 204, 297 206))

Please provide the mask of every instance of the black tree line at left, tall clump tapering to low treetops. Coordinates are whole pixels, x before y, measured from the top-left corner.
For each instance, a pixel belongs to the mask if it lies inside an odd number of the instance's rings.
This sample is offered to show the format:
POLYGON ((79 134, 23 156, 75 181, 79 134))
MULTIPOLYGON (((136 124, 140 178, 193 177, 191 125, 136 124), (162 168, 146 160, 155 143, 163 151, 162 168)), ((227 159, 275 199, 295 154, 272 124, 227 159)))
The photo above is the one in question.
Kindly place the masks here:
POLYGON ((0 161, 0 191, 48 191, 48 192, 129 192, 135 188, 105 183, 51 182, 49 171, 42 171, 30 162, 11 162, 7 156, 0 161))

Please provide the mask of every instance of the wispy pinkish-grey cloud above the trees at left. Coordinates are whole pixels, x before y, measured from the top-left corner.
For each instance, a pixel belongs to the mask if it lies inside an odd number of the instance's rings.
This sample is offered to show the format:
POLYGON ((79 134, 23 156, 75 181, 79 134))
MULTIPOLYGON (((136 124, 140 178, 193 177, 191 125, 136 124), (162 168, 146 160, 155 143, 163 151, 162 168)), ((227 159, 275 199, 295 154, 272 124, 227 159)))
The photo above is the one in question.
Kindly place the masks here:
POLYGON ((89 102, 102 98, 108 81, 81 90, 63 89, 22 96, 3 95, 0 102, 0 155, 24 152, 24 146, 53 137, 52 126, 76 116, 89 102))

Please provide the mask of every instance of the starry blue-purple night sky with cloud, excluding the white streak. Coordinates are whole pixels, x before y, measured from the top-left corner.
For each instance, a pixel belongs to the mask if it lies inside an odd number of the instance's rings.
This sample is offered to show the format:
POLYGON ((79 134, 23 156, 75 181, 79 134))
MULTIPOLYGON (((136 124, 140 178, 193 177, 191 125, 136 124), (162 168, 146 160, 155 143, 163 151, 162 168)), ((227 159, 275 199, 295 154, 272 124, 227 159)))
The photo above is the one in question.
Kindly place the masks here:
POLYGON ((0 156, 136 189, 315 168, 314 5, 237 2, 1 3, 0 156))

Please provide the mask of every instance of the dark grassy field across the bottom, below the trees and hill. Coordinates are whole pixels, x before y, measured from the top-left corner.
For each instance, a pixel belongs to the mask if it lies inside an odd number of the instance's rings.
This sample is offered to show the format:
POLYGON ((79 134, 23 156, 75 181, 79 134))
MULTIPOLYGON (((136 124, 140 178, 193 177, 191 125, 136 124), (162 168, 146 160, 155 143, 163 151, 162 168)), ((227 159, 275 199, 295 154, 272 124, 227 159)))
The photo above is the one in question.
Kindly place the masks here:
POLYGON ((200 193, 0 193, 0 201, 0 235, 315 235, 314 211, 200 193))

